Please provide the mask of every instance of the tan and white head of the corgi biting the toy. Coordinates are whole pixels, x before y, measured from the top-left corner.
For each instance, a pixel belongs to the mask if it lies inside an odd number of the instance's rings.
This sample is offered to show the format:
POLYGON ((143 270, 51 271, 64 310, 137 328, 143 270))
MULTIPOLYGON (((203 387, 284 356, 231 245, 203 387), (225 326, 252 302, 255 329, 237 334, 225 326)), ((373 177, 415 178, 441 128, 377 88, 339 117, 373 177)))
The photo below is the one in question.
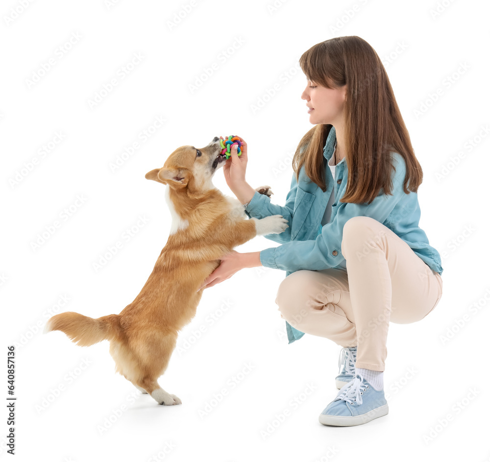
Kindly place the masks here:
POLYGON ((213 189, 211 178, 226 161, 221 155, 220 138, 215 136, 206 146, 180 146, 161 169, 149 171, 145 178, 169 185, 172 189, 189 188, 199 193, 213 189))

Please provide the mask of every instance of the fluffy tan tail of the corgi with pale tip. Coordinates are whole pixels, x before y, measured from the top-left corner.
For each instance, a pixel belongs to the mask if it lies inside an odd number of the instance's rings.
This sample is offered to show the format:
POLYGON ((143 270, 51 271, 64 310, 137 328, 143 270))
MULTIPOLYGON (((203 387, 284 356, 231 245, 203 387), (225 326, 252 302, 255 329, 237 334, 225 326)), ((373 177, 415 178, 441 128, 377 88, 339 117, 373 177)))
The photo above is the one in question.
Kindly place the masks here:
POLYGON ((121 334, 120 315, 108 315, 94 319, 73 311, 60 313, 49 318, 44 333, 64 332, 70 340, 80 346, 90 346, 102 340, 115 340, 121 334))

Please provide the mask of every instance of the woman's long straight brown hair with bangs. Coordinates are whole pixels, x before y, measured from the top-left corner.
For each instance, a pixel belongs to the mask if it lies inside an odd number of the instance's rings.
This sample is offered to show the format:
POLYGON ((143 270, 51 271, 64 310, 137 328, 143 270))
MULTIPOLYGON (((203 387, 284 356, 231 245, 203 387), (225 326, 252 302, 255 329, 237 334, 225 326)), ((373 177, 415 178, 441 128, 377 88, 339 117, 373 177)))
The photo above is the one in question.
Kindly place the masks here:
MULTIPOLYGON (((316 84, 327 88, 347 85, 343 149, 348 181, 340 201, 371 203, 381 188, 384 194, 392 195, 391 151, 405 159, 404 193, 417 192, 422 183, 422 168, 386 70, 368 42, 356 35, 334 37, 305 51, 299 65, 316 84)), ((306 175, 323 192, 326 191, 323 147, 331 128, 332 125, 324 123, 311 128, 301 138, 292 161, 296 179, 304 165, 306 175)))

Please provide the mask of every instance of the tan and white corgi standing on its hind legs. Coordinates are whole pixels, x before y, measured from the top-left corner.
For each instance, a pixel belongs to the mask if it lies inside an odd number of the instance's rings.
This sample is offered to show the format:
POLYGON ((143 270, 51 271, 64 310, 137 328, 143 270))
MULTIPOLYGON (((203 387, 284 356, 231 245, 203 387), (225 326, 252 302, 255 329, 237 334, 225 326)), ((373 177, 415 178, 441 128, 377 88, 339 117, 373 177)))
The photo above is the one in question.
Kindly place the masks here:
MULTIPOLYGON (((181 146, 161 169, 145 177, 166 185, 172 227, 146 284, 119 315, 96 319, 74 312, 49 318, 44 332, 62 331, 80 346, 109 340, 116 371, 158 404, 181 404, 158 385, 175 348, 180 329, 196 315, 204 280, 220 257, 255 236, 288 228, 282 215, 247 219, 243 205, 212 183, 224 164, 220 138, 207 146, 181 146)), ((257 188, 270 197, 270 186, 257 188)))

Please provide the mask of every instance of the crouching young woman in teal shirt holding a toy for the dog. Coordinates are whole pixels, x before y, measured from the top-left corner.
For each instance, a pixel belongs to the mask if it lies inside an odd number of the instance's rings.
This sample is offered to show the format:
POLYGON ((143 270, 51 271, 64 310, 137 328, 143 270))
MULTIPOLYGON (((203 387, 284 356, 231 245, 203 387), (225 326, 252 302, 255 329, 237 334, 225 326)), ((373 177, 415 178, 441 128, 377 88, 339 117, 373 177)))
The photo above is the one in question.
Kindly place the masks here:
POLYGON ((301 139, 286 205, 245 181, 247 147, 223 166, 249 218, 283 215, 289 228, 260 252, 224 255, 204 287, 244 267, 286 270, 275 303, 289 342, 304 333, 341 345, 340 391, 324 425, 360 425, 388 413, 383 391, 389 322, 430 313, 442 295, 439 252, 418 227, 422 169, 374 49, 357 36, 305 51, 301 98, 315 126, 301 139))

